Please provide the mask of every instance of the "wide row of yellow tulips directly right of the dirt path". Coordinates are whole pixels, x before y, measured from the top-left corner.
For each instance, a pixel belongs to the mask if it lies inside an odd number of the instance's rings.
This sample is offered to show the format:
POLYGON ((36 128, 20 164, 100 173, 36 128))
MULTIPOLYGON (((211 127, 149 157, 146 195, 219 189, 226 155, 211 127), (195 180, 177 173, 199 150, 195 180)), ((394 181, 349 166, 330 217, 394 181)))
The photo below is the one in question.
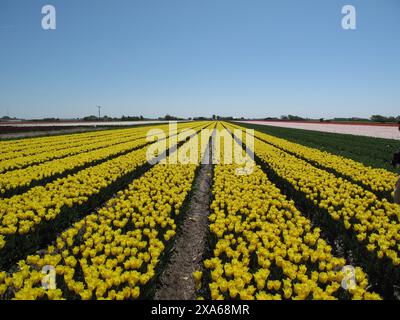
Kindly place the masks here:
POLYGON ((215 245, 204 261, 208 276, 193 275, 197 288, 203 276, 212 299, 380 299, 361 268, 355 279, 345 275, 345 259, 332 255, 320 230, 247 159, 251 165, 248 175, 238 175, 236 164, 215 167, 215 245))

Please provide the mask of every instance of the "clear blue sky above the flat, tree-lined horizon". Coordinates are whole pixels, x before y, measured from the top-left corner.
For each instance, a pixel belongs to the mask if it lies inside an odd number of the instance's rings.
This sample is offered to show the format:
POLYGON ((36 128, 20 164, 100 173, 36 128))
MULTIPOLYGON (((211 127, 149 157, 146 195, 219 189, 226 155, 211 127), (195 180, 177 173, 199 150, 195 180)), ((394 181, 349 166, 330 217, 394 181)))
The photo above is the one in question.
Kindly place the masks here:
POLYGON ((0 0, 0 46, 0 115, 400 114, 398 0, 0 0))

